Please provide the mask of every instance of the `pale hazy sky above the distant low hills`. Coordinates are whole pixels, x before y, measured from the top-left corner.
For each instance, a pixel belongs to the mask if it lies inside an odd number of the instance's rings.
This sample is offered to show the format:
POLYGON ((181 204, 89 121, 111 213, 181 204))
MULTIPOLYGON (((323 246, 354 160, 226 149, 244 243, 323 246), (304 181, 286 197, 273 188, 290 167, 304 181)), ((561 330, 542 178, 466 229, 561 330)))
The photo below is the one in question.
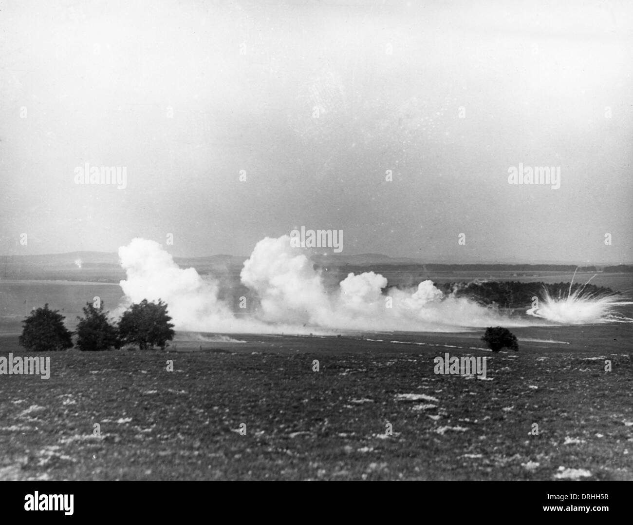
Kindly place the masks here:
POLYGON ((305 226, 342 254, 633 261, 630 1, 0 8, 0 254, 248 255, 305 226), (125 189, 76 184, 86 162, 125 189))

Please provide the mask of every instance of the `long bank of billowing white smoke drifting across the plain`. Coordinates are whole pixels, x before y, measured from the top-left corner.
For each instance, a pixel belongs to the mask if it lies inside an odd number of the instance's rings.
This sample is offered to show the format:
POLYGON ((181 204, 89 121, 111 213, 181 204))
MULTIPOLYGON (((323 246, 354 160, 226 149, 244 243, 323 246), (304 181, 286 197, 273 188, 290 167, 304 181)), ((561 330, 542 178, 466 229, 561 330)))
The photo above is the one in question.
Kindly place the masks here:
POLYGON ((331 333, 333 330, 406 330, 454 332, 503 323, 525 325, 503 318, 465 298, 445 297, 430 280, 417 288, 387 287, 387 279, 373 271, 350 273, 328 293, 322 276, 290 237, 264 238, 244 262, 241 283, 256 306, 248 315, 218 299, 215 278, 196 269, 182 269, 172 256, 151 240, 135 238, 119 249, 127 279, 123 292, 131 302, 162 299, 179 330, 225 333, 331 333))

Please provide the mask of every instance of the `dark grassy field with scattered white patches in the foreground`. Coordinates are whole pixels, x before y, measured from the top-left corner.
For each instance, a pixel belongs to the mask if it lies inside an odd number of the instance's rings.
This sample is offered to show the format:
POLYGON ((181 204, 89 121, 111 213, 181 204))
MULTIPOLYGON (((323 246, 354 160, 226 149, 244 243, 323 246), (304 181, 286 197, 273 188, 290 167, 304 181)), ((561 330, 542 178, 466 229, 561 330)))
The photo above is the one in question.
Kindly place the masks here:
MULTIPOLYGON (((613 327, 575 330, 499 354, 470 349, 479 334, 52 353, 49 380, 0 375, 0 479, 633 480, 630 328, 608 346, 613 327), (434 374, 447 351, 486 356, 489 380, 434 374)), ((16 337, 0 349, 25 355, 16 337)))

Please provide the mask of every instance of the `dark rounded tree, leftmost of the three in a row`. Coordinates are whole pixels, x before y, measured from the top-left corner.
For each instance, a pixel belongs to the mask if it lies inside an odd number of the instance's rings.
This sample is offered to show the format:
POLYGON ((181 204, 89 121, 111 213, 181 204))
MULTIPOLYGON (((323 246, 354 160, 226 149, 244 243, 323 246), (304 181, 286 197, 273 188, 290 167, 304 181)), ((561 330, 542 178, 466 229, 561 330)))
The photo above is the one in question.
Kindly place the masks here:
POLYGON ((22 321, 22 335, 18 338, 20 346, 32 352, 47 352, 72 348, 73 333, 64 326, 65 317, 58 310, 44 308, 33 310, 22 321))

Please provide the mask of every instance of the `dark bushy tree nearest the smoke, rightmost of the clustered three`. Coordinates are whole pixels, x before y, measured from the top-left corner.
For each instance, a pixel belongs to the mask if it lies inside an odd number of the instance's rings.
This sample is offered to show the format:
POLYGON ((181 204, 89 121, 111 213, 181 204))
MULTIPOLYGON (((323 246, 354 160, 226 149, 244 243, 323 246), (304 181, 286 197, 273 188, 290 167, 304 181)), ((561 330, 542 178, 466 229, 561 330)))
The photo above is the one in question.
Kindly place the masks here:
POLYGON ((156 304, 143 299, 123 312, 119 321, 120 340, 123 344, 137 344, 141 350, 154 346, 164 349, 174 335, 171 320, 164 302, 158 299, 156 304))

